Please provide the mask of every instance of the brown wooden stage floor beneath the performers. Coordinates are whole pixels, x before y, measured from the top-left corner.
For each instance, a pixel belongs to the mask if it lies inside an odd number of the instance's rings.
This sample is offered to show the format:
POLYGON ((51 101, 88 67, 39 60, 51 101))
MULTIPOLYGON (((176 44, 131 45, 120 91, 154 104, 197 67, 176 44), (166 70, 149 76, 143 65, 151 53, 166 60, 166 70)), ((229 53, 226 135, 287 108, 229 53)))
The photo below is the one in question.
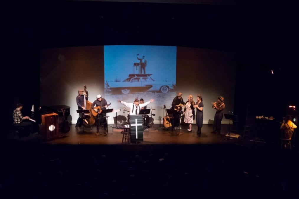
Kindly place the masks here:
MULTIPOLYGON (((202 134, 196 134, 197 126, 192 125, 192 131, 187 132, 187 125, 182 125, 180 132, 182 135, 177 135, 179 130, 172 128, 164 128, 163 125, 154 125, 152 128, 144 131, 142 142, 122 142, 122 129, 112 128, 115 125, 109 124, 108 133, 105 135, 103 128, 100 128, 102 135, 96 135, 96 126, 87 126, 82 133, 82 127, 77 130, 75 125, 70 125, 71 129, 68 133, 60 134, 58 138, 52 140, 44 140, 41 134, 30 134, 28 137, 19 137, 18 135, 8 134, 7 141, 14 143, 42 143, 42 144, 82 144, 82 145, 123 145, 123 144, 141 144, 141 145, 163 145, 163 144, 225 144, 242 142, 242 137, 228 139, 225 135, 228 133, 229 125, 222 125, 222 134, 216 135, 211 133, 213 125, 203 125, 202 134)), ((119 127, 119 125, 118 125, 119 127)))

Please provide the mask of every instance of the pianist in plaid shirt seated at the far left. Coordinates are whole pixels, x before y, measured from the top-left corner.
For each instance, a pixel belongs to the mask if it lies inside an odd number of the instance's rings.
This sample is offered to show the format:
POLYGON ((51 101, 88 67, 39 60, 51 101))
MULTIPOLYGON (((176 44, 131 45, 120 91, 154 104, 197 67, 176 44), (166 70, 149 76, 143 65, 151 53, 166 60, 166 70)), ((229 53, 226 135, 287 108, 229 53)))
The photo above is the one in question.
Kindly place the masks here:
POLYGON ((23 114, 21 112, 22 108, 23 105, 21 103, 18 103, 16 105, 16 109, 13 111, 13 125, 15 125, 16 127, 28 127, 30 133, 38 134, 34 131, 33 123, 30 121, 32 119, 29 116, 23 117, 23 114))

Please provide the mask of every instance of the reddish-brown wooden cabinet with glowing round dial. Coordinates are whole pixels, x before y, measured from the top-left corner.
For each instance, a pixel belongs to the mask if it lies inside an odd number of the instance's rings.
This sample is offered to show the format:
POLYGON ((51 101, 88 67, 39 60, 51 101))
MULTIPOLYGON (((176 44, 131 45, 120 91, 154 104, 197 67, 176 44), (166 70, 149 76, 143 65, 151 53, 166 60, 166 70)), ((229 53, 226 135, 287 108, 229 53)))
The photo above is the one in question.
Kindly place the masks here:
POLYGON ((51 113, 42 115, 43 136, 46 140, 58 137, 58 114, 51 113))

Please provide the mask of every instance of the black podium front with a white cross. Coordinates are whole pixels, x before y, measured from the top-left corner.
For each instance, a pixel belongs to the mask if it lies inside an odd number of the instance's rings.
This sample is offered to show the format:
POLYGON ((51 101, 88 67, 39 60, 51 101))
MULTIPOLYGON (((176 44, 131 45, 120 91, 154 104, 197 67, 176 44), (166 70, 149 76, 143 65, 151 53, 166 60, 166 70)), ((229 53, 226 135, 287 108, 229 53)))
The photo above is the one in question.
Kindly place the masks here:
POLYGON ((130 115, 130 131, 131 141, 143 141, 142 115, 130 115))

